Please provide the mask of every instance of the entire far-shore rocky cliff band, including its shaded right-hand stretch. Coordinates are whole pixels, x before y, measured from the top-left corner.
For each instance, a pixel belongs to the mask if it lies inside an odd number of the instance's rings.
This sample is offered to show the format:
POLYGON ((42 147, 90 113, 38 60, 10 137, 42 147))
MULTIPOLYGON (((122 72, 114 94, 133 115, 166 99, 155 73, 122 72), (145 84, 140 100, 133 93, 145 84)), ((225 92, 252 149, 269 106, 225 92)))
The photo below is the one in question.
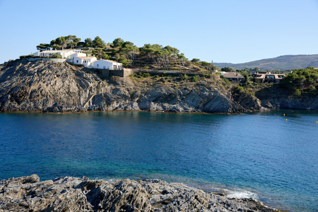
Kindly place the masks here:
POLYGON ((68 63, 14 61, 0 65, 0 111, 238 113, 267 108, 318 109, 316 96, 294 97, 278 85, 249 88, 250 92, 235 92, 234 86, 230 99, 230 86, 219 78, 200 77, 198 82, 181 80, 178 75, 166 78, 171 79, 104 78, 98 70, 68 63))

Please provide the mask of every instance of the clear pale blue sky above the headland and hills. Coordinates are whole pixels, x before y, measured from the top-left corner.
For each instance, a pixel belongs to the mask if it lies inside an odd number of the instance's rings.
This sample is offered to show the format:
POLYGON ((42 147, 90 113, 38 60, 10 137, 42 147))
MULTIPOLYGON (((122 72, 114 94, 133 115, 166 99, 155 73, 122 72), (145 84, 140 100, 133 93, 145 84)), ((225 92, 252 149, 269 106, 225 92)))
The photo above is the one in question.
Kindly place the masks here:
POLYGON ((317 14, 318 0, 0 0, 0 63, 66 35, 170 45, 207 62, 318 54, 317 14))

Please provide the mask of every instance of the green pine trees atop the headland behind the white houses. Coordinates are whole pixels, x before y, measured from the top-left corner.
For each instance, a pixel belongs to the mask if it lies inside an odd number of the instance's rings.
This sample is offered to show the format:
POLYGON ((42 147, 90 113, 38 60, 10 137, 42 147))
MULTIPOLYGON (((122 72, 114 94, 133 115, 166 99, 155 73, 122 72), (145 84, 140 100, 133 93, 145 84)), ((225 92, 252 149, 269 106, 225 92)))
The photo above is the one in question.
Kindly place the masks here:
MULTIPOLYGON (((37 49, 39 51, 50 50, 64 50, 76 48, 78 44, 85 47, 92 47, 89 53, 96 58, 110 59, 115 58, 117 62, 123 64, 123 66, 134 65, 147 65, 154 64, 158 68, 164 68, 169 70, 171 67, 175 67, 178 70, 184 70, 188 58, 177 48, 169 45, 162 46, 160 44, 144 44, 142 47, 137 47, 130 41, 124 41, 121 38, 115 38, 112 43, 105 43, 99 36, 96 36, 93 40, 86 38, 84 42, 80 42, 81 38, 77 38, 75 35, 62 36, 52 40, 49 44, 39 44, 37 49), (107 51, 106 46, 111 47, 111 51, 107 51), (107 54, 108 53, 108 54, 107 54)), ((214 71, 218 68, 212 63, 201 61, 194 58, 191 62, 197 66, 206 69, 207 71, 214 71)))

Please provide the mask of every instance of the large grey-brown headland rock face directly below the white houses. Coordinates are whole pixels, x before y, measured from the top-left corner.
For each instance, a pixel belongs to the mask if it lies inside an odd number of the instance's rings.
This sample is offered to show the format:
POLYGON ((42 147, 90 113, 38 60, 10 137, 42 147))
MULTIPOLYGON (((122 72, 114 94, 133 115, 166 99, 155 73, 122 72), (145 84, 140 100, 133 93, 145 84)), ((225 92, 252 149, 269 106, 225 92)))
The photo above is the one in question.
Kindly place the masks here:
POLYGON ((95 70, 53 61, 0 66, 0 111, 242 111, 227 95, 206 81, 178 87, 162 82, 135 85, 130 78, 102 79, 95 70))

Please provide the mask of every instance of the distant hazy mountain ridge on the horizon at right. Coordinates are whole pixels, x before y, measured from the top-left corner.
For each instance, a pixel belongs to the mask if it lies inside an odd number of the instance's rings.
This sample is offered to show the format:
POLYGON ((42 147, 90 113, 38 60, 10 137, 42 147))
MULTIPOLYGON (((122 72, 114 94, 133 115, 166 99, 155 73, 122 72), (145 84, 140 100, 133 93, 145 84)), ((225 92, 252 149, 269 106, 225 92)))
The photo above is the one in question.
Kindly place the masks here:
POLYGON ((230 67, 234 70, 243 68, 261 68, 262 70, 291 70, 318 67, 318 54, 283 55, 276 58, 255 60, 247 63, 213 63, 218 68, 230 67))

